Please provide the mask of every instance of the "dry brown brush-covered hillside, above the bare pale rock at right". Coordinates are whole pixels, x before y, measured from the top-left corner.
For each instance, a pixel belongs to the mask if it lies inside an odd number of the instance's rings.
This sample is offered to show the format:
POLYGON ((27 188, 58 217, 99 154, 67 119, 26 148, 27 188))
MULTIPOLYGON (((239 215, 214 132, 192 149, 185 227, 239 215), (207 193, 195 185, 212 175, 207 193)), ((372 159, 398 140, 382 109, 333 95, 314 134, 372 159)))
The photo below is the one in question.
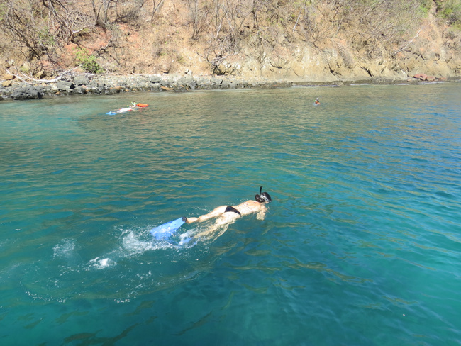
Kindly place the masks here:
POLYGON ((77 65, 232 74, 248 57, 283 69, 307 48, 334 50, 352 69, 406 50, 431 11, 459 50, 447 25, 459 23, 460 0, 1 0, 0 57, 35 76, 77 65))

